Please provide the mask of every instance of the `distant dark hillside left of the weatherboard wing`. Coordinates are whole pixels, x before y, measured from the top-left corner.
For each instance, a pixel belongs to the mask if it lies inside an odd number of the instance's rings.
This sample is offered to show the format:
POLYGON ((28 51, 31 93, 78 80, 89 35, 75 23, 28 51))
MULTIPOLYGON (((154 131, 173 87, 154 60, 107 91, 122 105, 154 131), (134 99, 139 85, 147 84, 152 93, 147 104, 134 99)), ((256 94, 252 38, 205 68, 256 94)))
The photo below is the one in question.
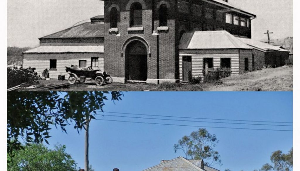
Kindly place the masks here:
POLYGON ((7 47, 7 65, 21 65, 22 64, 22 52, 25 52, 31 48, 19 48, 19 47, 7 47))

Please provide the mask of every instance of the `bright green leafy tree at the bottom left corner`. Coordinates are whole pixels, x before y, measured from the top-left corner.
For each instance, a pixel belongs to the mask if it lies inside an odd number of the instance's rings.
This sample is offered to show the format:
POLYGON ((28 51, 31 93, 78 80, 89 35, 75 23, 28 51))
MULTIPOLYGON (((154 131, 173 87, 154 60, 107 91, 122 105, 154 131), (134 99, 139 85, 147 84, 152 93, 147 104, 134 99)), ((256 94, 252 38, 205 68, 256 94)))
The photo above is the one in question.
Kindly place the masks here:
MULTIPOLYGON (((48 149, 43 144, 23 146, 24 150, 13 150, 13 163, 7 171, 77 171, 76 162, 66 153, 65 145, 57 144, 48 149)), ((7 155, 10 158, 9 155, 7 155)))

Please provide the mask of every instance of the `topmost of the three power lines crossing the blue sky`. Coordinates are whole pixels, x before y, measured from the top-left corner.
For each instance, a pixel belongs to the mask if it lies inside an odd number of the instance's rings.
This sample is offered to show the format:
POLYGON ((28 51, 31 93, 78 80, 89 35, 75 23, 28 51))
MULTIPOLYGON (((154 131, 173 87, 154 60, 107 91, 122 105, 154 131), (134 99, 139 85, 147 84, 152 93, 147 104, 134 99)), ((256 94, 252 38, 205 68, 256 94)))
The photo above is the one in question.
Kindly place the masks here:
MULTIPOLYGON (((102 112, 102 111, 97 111, 102 112)), ((135 114, 135 113, 124 113, 124 112, 108 112, 104 113, 112 114, 130 114, 130 115, 141 115, 141 116, 159 116, 159 117, 172 117, 172 118, 186 118, 186 119, 207 119, 207 120, 226 120, 226 121, 242 121, 242 122, 268 122, 268 123, 293 123, 293 122, 277 122, 277 121, 257 121, 257 120, 237 120, 237 119, 215 119, 215 118, 196 118, 196 117, 184 117, 184 116, 170 116, 170 115, 153 115, 153 114, 135 114)))

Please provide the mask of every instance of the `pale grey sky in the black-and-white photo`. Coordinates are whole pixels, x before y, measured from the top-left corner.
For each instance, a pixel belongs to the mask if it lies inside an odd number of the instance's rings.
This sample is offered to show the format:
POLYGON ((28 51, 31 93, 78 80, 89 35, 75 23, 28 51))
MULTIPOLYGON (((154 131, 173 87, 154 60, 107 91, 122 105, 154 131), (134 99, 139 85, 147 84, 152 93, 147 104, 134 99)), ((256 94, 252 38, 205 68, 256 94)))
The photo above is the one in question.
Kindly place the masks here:
MULTIPOLYGON (((252 20, 253 39, 293 36, 292 0, 229 0, 229 3, 256 14, 252 20)), ((7 1, 7 46, 35 47, 38 38, 69 28, 75 23, 103 15, 99 0, 9 0, 7 1)))

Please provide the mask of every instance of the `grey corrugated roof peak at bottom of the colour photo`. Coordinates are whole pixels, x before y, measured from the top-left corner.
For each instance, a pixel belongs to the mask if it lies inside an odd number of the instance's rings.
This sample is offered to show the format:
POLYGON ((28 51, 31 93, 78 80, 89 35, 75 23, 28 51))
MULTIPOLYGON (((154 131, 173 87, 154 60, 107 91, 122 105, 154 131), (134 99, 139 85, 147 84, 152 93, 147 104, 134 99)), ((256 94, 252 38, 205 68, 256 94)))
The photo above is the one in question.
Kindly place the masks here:
POLYGON ((204 166, 201 169, 201 160, 187 160, 183 157, 174 158, 172 160, 164 160, 161 164, 143 171, 220 171, 212 167, 204 166))

